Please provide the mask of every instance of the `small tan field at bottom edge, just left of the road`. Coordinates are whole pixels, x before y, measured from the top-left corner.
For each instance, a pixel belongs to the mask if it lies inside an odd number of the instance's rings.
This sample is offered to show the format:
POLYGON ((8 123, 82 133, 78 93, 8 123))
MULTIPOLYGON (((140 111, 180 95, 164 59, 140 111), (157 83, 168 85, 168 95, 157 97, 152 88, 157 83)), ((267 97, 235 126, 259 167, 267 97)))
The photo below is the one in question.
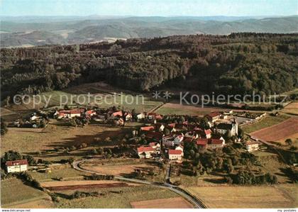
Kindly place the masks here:
POLYGON ((181 197, 131 202, 133 208, 194 208, 181 197))

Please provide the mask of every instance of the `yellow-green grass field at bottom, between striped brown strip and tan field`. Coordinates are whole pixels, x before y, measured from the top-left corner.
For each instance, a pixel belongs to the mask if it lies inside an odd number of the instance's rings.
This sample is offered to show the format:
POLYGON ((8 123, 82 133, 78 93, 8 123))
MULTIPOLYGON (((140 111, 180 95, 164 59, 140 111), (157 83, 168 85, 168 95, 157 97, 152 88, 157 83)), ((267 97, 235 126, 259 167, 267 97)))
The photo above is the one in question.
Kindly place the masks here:
MULTIPOLYGON (((144 201, 151 199, 167 199, 177 197, 177 194, 166 189, 159 189, 153 186, 131 186, 110 189, 94 189, 88 191, 99 191, 106 196, 87 197, 83 199, 61 198, 59 203, 55 203, 57 208, 131 208, 130 202, 144 201), (114 191, 123 191, 117 194, 114 191)), ((66 191, 64 194, 72 194, 74 191, 66 191)))

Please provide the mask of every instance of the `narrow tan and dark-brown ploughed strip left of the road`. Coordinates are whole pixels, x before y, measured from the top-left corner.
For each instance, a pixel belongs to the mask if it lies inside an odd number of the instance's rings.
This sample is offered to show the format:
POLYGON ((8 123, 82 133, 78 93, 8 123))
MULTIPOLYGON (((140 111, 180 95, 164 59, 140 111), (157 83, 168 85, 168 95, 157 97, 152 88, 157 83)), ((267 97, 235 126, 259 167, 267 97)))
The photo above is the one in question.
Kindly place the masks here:
POLYGON ((135 184, 109 181, 109 180, 84 180, 84 181, 61 181, 61 182, 43 182, 43 187, 50 191, 76 190, 76 189, 101 189, 123 186, 134 186, 135 184))

